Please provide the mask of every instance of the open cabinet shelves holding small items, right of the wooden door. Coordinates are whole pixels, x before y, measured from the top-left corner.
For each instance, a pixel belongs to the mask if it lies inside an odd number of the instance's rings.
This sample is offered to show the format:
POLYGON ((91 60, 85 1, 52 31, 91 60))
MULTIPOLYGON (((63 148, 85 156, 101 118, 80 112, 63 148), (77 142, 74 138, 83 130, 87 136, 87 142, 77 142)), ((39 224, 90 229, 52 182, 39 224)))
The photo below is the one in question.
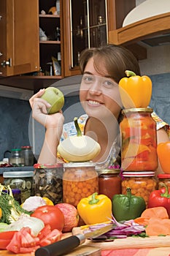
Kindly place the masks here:
POLYGON ((39 58, 41 73, 50 78, 63 77, 63 27, 62 1, 58 10, 56 0, 39 0, 39 29, 45 37, 39 37, 39 58))

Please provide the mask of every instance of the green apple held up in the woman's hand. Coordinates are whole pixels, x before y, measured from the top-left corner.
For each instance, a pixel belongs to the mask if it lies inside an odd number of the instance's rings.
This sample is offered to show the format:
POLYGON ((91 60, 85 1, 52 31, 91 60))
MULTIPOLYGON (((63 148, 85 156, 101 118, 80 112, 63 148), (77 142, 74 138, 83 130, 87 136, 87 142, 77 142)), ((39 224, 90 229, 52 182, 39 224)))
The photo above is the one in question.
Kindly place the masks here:
POLYGON ((57 113, 61 108, 63 108, 63 93, 55 87, 47 87, 41 98, 50 103, 51 108, 47 109, 49 114, 57 113))

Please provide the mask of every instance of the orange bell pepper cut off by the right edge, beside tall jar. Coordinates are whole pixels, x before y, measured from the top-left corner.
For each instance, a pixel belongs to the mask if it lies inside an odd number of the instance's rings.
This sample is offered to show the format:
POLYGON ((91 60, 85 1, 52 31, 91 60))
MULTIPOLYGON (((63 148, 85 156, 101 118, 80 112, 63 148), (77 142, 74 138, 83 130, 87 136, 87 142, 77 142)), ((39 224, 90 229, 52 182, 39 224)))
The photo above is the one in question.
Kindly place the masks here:
POLYGON ((170 141, 159 143, 157 154, 163 173, 170 173, 170 141))

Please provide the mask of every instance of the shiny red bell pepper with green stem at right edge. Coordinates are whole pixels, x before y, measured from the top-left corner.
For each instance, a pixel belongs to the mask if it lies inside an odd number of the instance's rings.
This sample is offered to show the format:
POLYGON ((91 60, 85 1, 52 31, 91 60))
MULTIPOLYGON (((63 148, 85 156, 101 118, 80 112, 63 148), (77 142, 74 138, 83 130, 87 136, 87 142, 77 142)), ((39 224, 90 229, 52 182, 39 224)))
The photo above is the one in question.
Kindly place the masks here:
POLYGON ((169 214, 170 218, 170 189, 166 184, 162 184, 163 188, 154 190, 150 193, 148 208, 163 206, 169 214))

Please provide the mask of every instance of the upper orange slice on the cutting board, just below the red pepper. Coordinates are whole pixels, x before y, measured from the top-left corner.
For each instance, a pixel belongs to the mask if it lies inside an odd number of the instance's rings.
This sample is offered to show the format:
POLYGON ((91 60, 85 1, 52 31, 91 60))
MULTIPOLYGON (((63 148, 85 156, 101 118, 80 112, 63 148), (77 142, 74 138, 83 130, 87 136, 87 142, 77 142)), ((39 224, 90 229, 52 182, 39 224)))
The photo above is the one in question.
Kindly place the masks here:
POLYGON ((142 212, 141 217, 145 219, 150 219, 152 217, 169 219, 169 215, 166 211, 166 208, 164 208, 163 206, 147 208, 142 212))

